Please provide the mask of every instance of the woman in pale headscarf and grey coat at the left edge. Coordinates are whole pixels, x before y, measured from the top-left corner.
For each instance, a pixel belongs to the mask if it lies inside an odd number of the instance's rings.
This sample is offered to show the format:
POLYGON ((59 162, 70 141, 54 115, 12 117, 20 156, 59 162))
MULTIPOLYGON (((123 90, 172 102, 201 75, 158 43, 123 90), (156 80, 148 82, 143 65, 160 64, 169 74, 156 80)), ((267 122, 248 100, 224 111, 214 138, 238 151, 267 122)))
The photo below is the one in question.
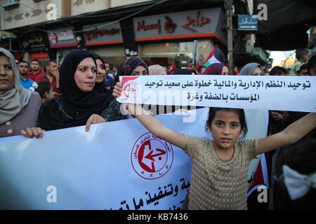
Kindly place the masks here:
POLYGON ((0 138, 23 134, 40 137, 37 115, 41 97, 20 85, 20 77, 11 52, 0 48, 0 138))

